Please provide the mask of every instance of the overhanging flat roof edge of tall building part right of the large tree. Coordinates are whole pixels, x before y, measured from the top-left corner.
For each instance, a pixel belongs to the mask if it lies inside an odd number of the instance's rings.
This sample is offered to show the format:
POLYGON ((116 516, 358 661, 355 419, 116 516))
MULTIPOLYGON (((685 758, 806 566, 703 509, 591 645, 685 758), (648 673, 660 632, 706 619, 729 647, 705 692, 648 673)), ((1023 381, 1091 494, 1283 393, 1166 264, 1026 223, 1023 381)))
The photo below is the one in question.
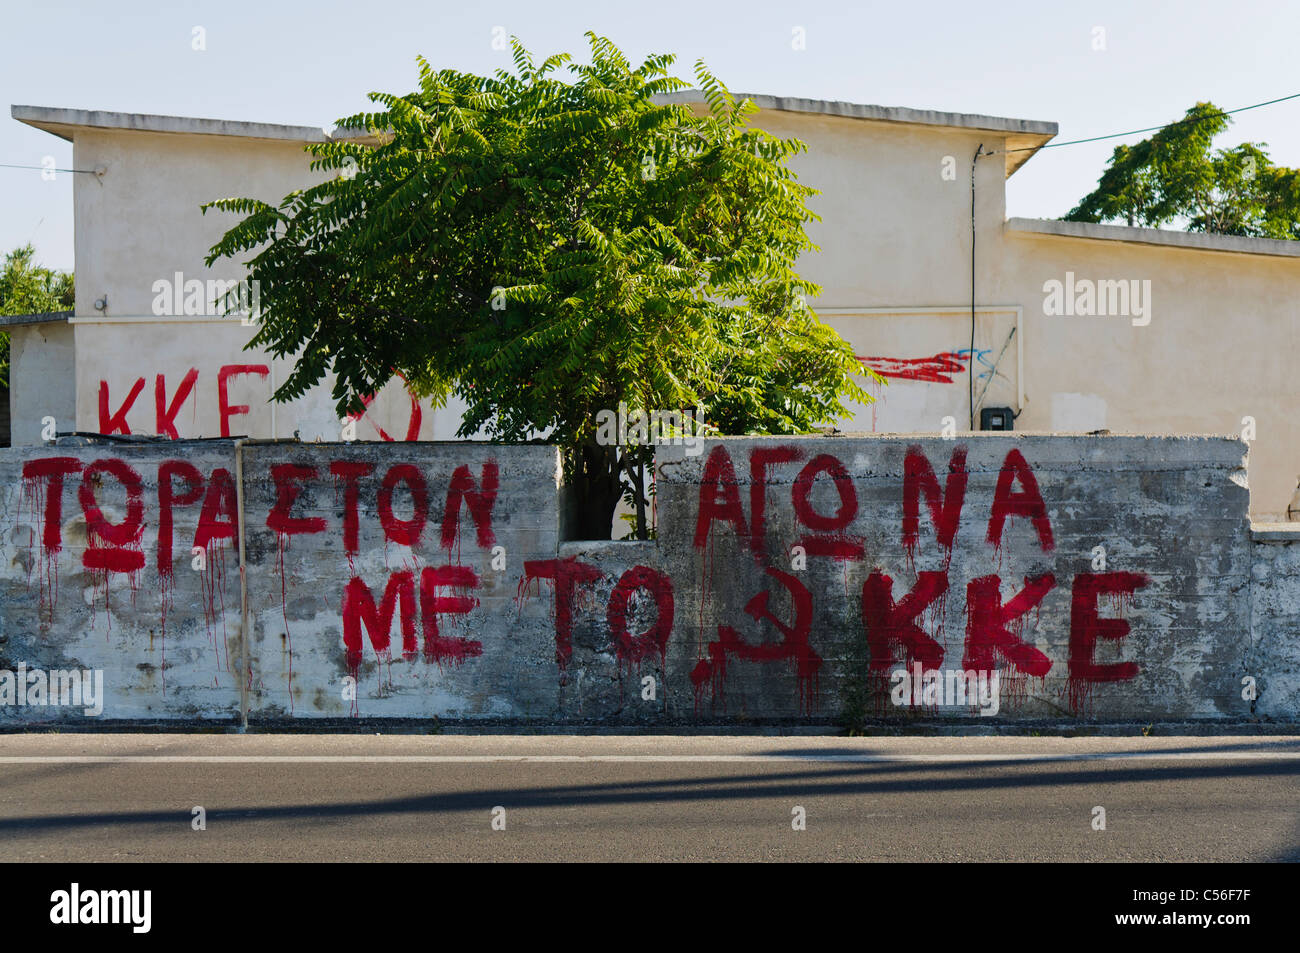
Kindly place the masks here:
MULTIPOLYGON (((868 120, 872 122, 897 122, 911 126, 944 126, 946 129, 971 129, 1000 133, 1006 137, 1006 174, 1024 165, 1044 143, 1060 131, 1056 122, 1045 120, 1013 120, 1002 116, 983 116, 979 113, 945 113, 936 109, 910 109, 898 105, 870 105, 867 103, 844 103, 832 99, 800 99, 797 96, 770 96, 762 92, 733 92, 737 100, 751 99, 759 109, 777 112, 812 113, 816 116, 838 116, 849 120, 868 120)), ((705 103, 702 90, 681 90, 655 96, 658 103, 705 103)))

